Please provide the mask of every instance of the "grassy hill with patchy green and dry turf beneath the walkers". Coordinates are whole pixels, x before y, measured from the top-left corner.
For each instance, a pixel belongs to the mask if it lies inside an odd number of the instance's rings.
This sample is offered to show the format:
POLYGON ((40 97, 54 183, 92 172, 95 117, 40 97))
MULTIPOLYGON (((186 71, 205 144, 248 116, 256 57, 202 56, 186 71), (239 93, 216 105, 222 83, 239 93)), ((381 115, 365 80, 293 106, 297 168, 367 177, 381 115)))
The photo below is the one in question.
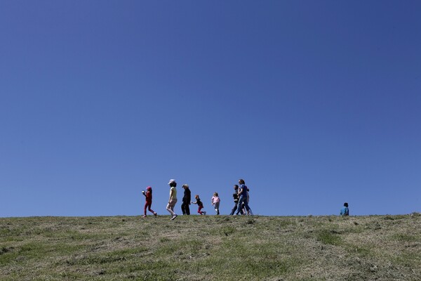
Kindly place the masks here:
POLYGON ((421 280, 421 215, 0 218, 0 280, 421 280))

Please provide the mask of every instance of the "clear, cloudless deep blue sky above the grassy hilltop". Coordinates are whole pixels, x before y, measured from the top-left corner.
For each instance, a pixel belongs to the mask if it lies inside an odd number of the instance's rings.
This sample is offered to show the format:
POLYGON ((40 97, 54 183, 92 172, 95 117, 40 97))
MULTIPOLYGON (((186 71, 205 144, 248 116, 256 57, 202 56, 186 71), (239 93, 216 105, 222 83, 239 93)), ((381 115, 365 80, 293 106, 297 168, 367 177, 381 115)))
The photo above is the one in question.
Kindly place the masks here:
POLYGON ((421 211, 420 1, 1 1, 0 216, 421 211), (180 213, 180 202, 176 205, 180 213), (193 207, 196 211, 196 207, 193 207))

